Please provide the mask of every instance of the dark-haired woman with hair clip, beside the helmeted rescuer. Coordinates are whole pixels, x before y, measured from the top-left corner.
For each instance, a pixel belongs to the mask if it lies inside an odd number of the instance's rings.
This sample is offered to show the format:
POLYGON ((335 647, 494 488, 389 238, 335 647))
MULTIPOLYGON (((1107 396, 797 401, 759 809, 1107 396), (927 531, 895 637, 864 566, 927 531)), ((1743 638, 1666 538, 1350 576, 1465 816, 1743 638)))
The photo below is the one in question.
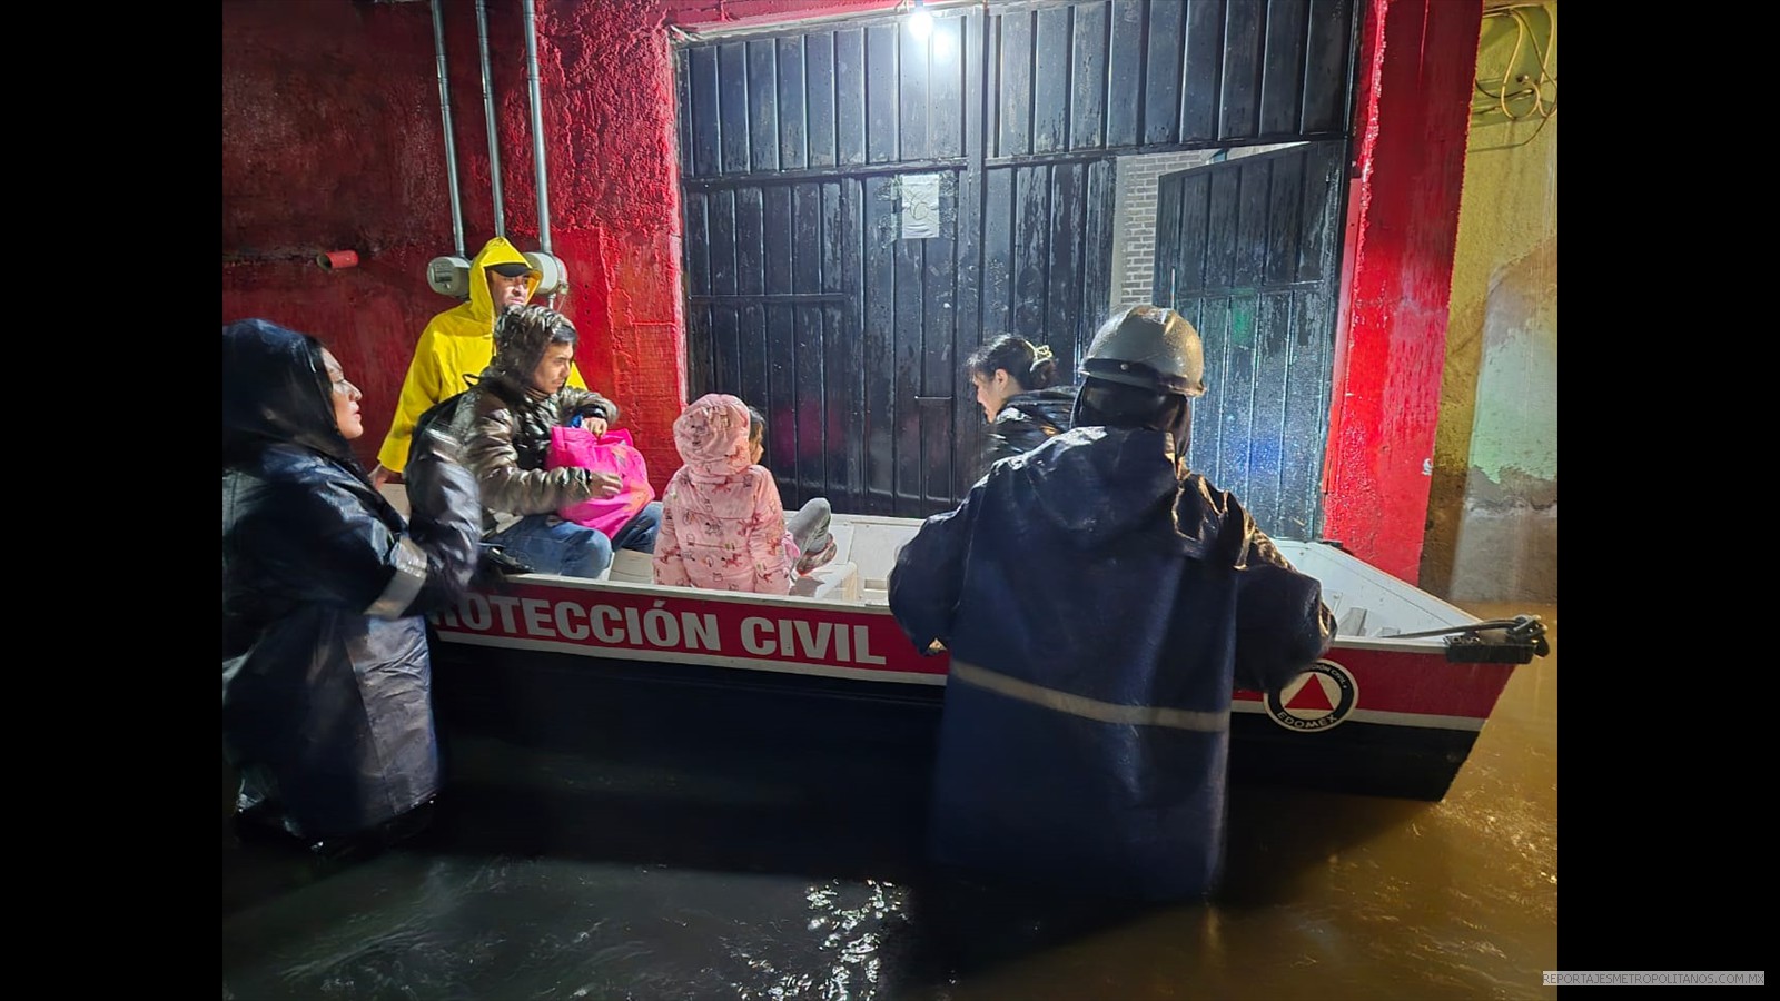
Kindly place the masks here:
POLYGON ((983 472, 995 460, 1018 456, 1070 429, 1075 392, 1052 388, 1057 362, 1050 347, 1004 333, 977 347, 965 360, 977 404, 990 422, 990 440, 983 451, 983 472))

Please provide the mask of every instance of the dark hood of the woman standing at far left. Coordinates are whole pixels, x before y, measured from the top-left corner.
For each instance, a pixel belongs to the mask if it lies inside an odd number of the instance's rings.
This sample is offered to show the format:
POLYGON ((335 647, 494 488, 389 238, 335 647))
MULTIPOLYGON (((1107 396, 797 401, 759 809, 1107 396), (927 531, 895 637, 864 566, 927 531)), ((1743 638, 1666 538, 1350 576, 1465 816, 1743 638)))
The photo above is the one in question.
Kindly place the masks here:
POLYGON ((222 463, 294 444, 356 465, 335 424, 322 346, 263 319, 222 328, 222 463))

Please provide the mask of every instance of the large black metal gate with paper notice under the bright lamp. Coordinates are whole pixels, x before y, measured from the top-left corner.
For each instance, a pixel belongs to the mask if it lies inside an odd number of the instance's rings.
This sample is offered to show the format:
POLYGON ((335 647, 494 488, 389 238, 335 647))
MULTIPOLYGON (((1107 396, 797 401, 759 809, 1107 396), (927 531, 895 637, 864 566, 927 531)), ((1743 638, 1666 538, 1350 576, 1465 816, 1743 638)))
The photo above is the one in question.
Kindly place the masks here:
POLYGON ((997 0, 926 39, 885 14, 682 39, 689 394, 767 415, 787 508, 952 508, 981 474, 963 358, 1009 331, 1073 379, 1109 312, 1116 157, 1344 142, 1355 18, 997 0))

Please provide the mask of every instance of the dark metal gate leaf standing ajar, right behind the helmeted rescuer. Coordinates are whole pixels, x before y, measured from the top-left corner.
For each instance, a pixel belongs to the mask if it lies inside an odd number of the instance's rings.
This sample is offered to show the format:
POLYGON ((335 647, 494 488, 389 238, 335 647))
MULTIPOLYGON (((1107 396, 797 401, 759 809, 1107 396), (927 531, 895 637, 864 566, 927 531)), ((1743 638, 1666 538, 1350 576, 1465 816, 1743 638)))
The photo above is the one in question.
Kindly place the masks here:
POLYGON ((1205 340, 1187 461, 1273 536, 1323 529, 1340 297, 1342 142, 1164 175, 1153 299, 1205 340))

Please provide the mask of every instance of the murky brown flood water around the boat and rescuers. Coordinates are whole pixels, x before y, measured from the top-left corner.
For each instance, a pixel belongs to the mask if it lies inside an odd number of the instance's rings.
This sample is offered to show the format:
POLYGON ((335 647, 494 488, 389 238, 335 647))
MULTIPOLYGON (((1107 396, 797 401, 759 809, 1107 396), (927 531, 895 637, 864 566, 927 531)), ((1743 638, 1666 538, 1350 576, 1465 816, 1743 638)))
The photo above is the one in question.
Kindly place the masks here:
POLYGON ((1556 997, 1558 609, 1463 607, 1540 614, 1552 652, 1445 800, 1237 787, 1210 905, 929 873, 895 762, 463 741, 433 826, 376 859, 224 834, 222 997, 1556 997))

